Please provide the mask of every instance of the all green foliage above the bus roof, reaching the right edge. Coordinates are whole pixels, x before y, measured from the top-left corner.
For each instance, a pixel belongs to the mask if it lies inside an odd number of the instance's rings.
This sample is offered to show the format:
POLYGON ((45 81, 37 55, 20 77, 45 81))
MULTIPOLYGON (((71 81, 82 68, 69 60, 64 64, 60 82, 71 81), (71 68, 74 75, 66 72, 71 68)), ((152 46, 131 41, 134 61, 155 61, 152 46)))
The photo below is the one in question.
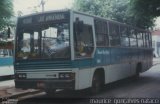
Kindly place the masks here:
POLYGON ((75 0, 73 8, 146 29, 160 15, 160 0, 75 0))

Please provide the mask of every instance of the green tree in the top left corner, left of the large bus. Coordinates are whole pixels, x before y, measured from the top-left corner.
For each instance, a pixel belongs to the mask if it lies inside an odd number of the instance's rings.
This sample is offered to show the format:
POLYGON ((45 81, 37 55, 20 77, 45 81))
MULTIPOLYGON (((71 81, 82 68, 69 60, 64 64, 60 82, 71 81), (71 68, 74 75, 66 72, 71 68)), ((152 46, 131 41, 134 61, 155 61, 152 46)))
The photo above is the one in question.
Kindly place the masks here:
POLYGON ((13 0, 0 0, 0 30, 11 25, 13 16, 13 0))

